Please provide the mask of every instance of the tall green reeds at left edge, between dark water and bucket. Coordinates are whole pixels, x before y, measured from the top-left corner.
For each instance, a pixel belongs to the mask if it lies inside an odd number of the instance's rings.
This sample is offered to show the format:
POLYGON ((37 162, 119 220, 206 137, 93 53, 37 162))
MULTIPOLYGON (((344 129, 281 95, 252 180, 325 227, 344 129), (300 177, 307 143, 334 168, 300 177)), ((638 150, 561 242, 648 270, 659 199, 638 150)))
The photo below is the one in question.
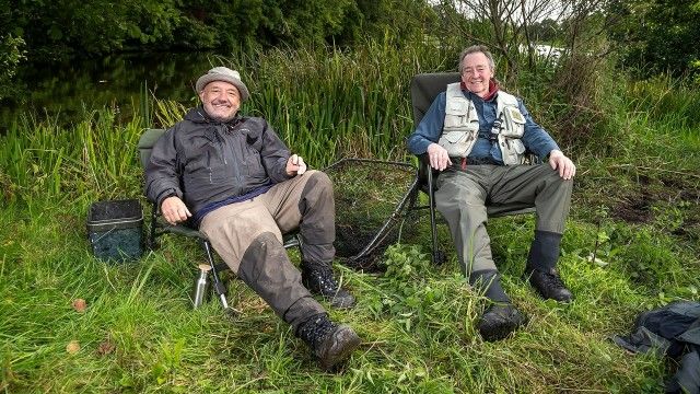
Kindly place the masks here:
POLYGON ((72 127, 23 118, 0 144, 3 201, 49 197, 86 202, 138 194, 136 147, 142 130, 138 115, 121 125, 110 108, 86 113, 72 127))

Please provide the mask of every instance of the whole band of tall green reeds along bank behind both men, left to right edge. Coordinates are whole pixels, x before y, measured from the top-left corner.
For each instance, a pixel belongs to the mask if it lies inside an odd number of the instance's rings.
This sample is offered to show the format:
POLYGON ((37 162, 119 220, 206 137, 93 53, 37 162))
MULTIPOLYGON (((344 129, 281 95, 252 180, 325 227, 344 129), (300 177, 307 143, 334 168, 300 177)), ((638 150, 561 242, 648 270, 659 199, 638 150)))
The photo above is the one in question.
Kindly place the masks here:
MULTIPOLYGON (((387 38, 352 50, 276 48, 217 62, 242 72, 252 94, 242 113, 268 119, 293 152, 323 167, 343 157, 410 160, 405 142, 415 127, 410 80, 419 72, 454 70, 459 49, 422 39, 398 45, 387 38)), ((616 85, 598 103, 611 126, 600 129, 603 140, 634 146, 625 140, 639 138, 634 130, 650 127, 646 120, 653 117, 654 129, 679 129, 697 146, 700 100, 695 91, 674 90, 678 86, 672 80, 616 85)), ((536 99, 537 92, 529 96, 536 99)), ((72 126, 32 117, 12 125, 0 143, 4 200, 34 194, 85 200, 139 195, 139 136, 145 127, 174 125, 192 105, 149 96, 145 85, 140 103, 126 121, 118 120, 116 108, 105 107, 85 112, 72 126)), ((533 107, 536 118, 547 117, 533 107)), ((553 135, 567 131, 555 128, 553 135)))

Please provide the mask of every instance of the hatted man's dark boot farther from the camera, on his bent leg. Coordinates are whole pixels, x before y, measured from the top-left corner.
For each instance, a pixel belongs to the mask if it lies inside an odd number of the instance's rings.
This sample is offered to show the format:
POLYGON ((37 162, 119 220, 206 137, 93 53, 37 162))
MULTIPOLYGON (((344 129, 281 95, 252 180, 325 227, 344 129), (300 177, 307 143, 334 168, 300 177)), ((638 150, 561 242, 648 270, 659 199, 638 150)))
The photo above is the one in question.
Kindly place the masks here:
POLYGON ((302 262, 302 283, 313 294, 320 294, 336 309, 350 309, 354 306, 354 297, 346 289, 338 286, 332 277, 330 264, 302 262))

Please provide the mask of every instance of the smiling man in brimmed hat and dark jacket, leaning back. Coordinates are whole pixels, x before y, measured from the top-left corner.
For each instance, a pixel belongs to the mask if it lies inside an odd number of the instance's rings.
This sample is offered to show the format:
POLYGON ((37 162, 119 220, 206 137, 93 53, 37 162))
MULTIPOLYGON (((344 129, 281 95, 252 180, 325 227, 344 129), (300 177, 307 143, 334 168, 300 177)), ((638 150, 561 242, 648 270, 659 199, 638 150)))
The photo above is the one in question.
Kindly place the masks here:
POLYGON ((153 147, 145 194, 171 224, 198 227, 231 270, 331 368, 360 344, 311 293, 336 308, 354 305, 332 277, 331 182, 306 171, 265 119, 238 114, 249 93, 237 71, 212 68, 196 90, 202 105, 153 147), (294 229, 302 241, 301 273, 282 245, 282 234, 294 229))

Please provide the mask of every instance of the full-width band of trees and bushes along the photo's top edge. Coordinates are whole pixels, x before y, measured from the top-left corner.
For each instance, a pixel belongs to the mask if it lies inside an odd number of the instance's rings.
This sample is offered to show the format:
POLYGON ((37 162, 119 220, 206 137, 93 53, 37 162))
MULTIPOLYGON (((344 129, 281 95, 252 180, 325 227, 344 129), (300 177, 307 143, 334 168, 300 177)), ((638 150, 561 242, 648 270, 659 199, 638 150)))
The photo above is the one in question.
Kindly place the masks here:
MULTIPOLYGON (((371 39, 397 50, 418 40, 442 48, 486 44, 511 84, 523 71, 542 82, 537 76, 551 62, 541 61, 538 44, 563 48, 567 96, 586 90, 592 80, 582 76, 595 74, 610 54, 641 78, 700 76, 700 0, 0 0, 0 88, 22 61, 352 48, 371 39)), ((0 89, 3 95, 11 89, 0 89)))

